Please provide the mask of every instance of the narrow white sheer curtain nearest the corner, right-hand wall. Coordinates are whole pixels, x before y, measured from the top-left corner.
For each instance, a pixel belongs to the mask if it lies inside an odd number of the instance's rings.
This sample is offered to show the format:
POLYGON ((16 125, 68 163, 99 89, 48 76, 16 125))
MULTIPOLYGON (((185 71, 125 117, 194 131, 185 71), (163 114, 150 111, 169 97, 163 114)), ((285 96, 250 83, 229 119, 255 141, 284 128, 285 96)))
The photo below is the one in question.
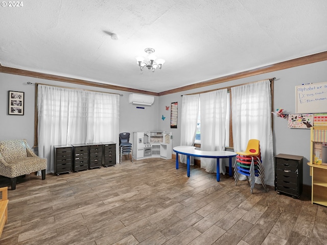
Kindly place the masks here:
MULTIPOLYGON (((199 113, 199 97, 199 94, 183 95, 180 124, 180 145, 194 144, 199 113)), ((186 156, 182 154, 179 154, 179 156, 180 162, 186 163, 186 156)))

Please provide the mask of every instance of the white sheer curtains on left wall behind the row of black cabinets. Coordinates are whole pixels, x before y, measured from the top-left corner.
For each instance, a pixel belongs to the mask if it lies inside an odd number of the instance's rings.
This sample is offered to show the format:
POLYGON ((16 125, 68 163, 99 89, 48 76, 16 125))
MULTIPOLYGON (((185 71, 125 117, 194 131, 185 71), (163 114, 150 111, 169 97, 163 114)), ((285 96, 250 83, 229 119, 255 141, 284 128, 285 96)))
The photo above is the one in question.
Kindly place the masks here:
POLYGON ((54 145, 118 142, 119 94, 38 85, 38 153, 54 173, 54 145), (50 163, 50 164, 49 164, 50 163))

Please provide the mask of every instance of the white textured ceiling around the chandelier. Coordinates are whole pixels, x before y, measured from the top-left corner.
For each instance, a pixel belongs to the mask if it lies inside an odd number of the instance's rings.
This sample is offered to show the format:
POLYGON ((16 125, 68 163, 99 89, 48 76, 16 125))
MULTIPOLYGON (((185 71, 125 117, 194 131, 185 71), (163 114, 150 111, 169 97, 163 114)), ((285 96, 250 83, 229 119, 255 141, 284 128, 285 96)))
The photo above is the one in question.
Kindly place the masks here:
POLYGON ((326 0, 21 2, 0 7, 3 66, 153 92, 327 51, 326 0))

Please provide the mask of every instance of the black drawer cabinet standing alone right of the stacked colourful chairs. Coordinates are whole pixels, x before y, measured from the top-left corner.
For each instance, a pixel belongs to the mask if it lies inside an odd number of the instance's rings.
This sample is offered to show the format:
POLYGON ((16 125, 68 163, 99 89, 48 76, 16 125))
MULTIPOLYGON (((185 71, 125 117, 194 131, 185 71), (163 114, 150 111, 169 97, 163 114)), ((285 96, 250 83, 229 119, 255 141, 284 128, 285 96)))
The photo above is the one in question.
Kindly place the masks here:
POLYGON ((299 198, 302 192, 303 157, 287 154, 275 156, 275 190, 299 198))

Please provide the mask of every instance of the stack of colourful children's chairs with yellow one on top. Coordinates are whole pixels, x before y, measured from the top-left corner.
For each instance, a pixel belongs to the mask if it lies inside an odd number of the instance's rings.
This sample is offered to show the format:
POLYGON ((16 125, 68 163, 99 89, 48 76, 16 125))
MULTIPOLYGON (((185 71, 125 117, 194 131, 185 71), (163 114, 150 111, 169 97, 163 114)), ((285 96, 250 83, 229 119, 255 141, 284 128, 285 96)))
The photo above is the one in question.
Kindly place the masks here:
POLYGON ((255 177, 258 177, 262 186, 266 189, 265 184, 265 171, 262 165, 261 152, 260 152, 260 141, 258 139, 250 139, 245 152, 236 152, 236 161, 234 165, 234 177, 235 185, 241 175, 245 175, 248 183, 251 186, 251 193, 255 184, 255 177))

